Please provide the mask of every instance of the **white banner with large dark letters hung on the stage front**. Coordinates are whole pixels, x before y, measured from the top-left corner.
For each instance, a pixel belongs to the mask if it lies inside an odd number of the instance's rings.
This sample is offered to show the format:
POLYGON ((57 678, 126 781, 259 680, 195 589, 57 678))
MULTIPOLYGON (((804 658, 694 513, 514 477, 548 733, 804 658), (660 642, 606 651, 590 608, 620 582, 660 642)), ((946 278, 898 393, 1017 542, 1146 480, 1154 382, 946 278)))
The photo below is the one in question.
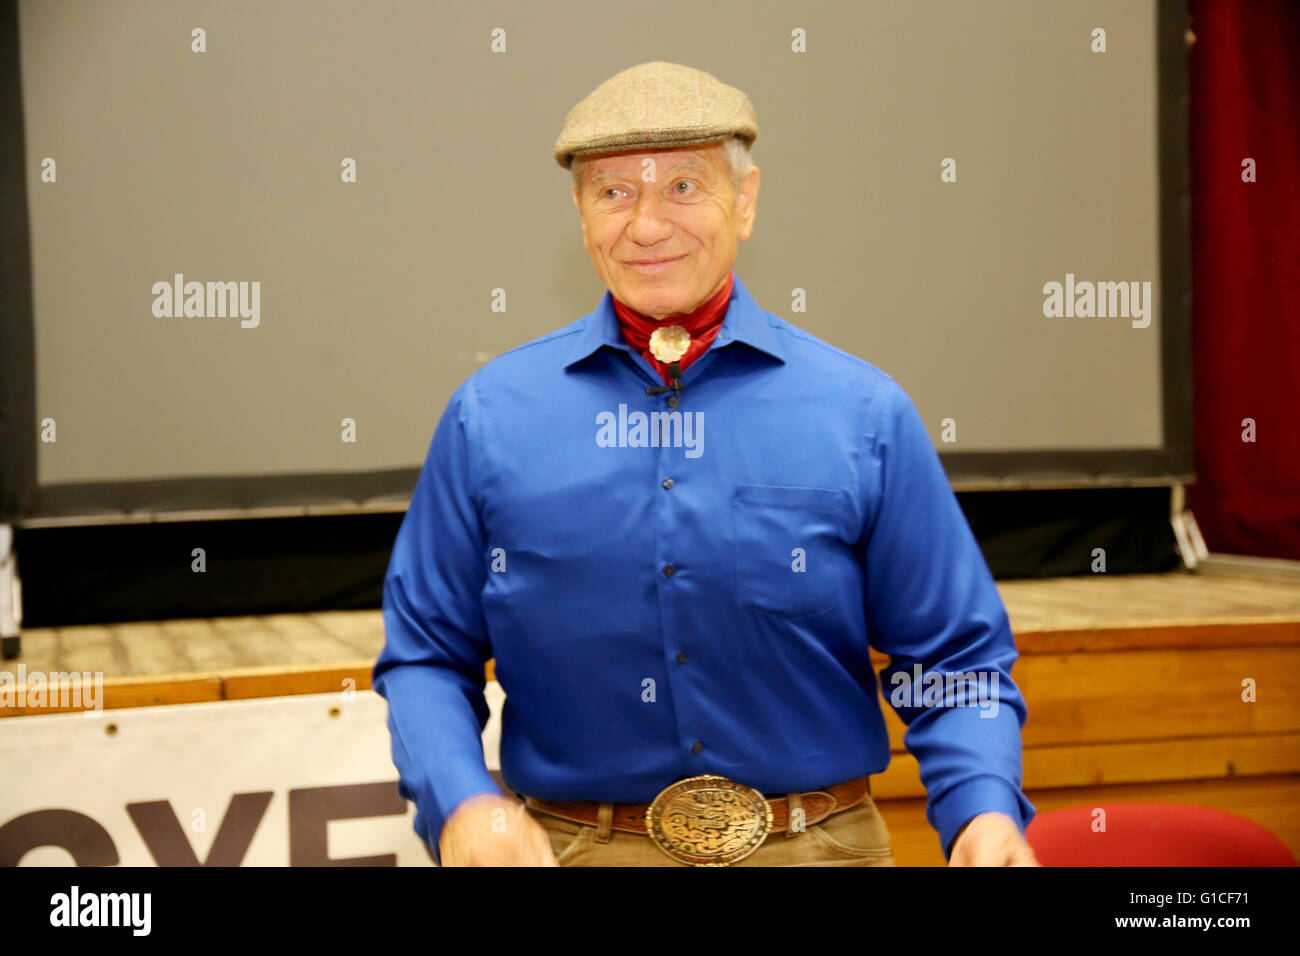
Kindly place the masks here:
MULTIPOLYGON (((504 695, 488 685, 488 766, 504 695)), ((373 691, 0 721, 0 865, 429 866, 373 691)))

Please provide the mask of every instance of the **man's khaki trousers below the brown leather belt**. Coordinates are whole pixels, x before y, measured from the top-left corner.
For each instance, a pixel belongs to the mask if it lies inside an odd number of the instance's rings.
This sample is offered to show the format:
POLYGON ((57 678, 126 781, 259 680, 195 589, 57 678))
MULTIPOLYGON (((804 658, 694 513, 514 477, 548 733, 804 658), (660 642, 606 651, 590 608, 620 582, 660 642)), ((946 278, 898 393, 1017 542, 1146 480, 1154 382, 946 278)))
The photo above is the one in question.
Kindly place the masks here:
MULTIPOLYGON (((793 795, 792 795, 793 796, 793 795)), ((601 805, 602 826, 584 826, 524 805, 547 836, 560 866, 686 866, 641 834, 610 829, 614 805, 601 805)), ((793 804, 792 804, 793 805, 793 804)), ((893 866, 889 830, 868 793, 807 830, 768 834, 763 845, 732 866, 893 866)))

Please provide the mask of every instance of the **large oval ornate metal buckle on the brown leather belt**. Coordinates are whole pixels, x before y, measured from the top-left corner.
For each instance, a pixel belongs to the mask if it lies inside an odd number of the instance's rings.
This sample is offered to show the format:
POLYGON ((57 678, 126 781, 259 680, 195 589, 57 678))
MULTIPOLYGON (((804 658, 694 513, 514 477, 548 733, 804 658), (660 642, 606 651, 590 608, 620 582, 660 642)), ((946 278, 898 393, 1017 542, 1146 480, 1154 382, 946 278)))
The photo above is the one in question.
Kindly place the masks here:
POLYGON ((664 853, 692 866, 727 866, 758 849, 772 806, 753 787, 705 774, 664 787, 646 810, 646 830, 664 853))

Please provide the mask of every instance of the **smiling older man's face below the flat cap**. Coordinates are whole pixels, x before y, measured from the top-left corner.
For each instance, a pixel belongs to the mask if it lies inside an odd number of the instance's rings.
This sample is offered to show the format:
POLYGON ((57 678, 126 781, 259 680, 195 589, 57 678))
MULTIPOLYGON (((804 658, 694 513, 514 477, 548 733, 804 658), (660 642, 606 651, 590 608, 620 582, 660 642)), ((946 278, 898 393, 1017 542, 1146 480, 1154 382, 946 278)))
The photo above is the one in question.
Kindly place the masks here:
POLYGON ((727 282, 754 230, 758 169, 737 194, 722 146, 593 156, 573 203, 582 245, 615 298, 653 319, 682 315, 727 282))

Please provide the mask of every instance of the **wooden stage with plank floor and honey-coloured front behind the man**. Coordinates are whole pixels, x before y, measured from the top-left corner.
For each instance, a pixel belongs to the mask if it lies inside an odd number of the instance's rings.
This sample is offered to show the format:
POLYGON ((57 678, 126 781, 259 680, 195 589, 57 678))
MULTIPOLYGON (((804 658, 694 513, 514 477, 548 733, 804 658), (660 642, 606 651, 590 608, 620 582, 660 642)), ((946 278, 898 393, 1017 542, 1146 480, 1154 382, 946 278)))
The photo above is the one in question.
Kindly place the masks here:
MULTIPOLYGON (((1300 857, 1300 583, 1175 572, 998 589, 1030 708, 1024 788, 1040 813, 1108 801, 1217 806, 1258 821, 1300 857), (1243 701, 1248 678, 1254 702, 1243 701)), ((104 708, 131 708, 328 693, 348 679, 367 688, 382 644, 378 611, 35 628, 3 670, 101 671, 104 708)), ((894 760, 872 790, 896 857, 942 865, 904 727, 888 709, 887 719, 894 760)))

